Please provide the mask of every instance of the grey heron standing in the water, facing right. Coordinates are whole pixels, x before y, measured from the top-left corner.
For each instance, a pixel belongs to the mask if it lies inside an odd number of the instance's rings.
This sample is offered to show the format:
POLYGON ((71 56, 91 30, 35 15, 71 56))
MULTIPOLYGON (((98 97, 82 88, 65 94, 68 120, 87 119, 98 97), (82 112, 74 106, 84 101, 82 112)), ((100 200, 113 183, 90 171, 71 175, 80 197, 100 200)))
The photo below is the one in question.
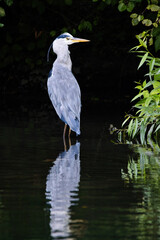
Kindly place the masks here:
POLYGON ((51 44, 57 58, 48 75, 47 88, 52 105, 59 118, 65 123, 63 138, 65 138, 67 125, 77 135, 80 134, 81 91, 76 78, 72 73, 72 61, 68 45, 90 40, 73 37, 69 33, 58 36, 51 44))

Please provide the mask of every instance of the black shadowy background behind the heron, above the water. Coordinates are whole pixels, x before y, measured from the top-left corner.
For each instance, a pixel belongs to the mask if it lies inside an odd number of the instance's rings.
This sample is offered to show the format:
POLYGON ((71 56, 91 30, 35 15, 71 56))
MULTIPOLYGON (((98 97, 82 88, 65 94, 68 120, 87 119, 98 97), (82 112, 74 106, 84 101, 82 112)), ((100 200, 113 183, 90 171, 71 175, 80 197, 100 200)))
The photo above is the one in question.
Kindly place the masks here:
POLYGON ((82 91, 82 105, 129 105, 134 95, 138 59, 129 53, 137 29, 129 13, 92 1, 14 1, 0 29, 0 93, 3 108, 51 106, 46 82, 56 58, 47 51, 67 31, 90 43, 70 46, 73 73, 82 91))

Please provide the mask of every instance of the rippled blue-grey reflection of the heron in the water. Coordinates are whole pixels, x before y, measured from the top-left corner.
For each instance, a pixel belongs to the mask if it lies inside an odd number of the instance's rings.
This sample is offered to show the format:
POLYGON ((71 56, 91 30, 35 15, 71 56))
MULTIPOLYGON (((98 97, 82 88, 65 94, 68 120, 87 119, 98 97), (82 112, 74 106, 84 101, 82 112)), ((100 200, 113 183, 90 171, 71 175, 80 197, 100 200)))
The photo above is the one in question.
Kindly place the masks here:
POLYGON ((80 181, 80 143, 59 154, 47 176, 46 198, 50 203, 51 237, 67 237, 70 206, 77 203, 80 181))

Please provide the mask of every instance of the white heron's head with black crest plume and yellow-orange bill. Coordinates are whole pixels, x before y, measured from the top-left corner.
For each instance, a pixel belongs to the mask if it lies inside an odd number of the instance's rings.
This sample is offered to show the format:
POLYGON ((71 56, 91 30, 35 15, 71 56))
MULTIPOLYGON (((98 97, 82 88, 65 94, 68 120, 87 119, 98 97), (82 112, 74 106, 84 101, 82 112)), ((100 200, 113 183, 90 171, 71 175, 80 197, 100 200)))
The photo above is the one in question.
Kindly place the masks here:
POLYGON ((49 60, 49 52, 51 50, 51 47, 53 47, 53 51, 57 54, 57 52, 61 48, 65 48, 66 47, 68 49, 68 45, 71 45, 73 43, 89 42, 89 41, 90 40, 87 40, 87 39, 73 37, 70 33, 63 33, 63 34, 59 35, 53 41, 51 46, 49 47, 48 54, 47 54, 47 60, 49 60))

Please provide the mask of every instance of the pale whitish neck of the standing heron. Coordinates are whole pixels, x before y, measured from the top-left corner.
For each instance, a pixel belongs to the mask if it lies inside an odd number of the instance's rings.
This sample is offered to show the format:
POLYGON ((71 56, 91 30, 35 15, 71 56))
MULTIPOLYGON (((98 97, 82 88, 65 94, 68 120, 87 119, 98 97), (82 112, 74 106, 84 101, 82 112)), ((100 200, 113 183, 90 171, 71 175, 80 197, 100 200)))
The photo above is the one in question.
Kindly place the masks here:
POLYGON ((68 68, 71 71, 72 62, 70 58, 70 51, 68 50, 68 46, 64 45, 59 48, 57 52, 56 62, 62 64, 64 67, 68 68))

